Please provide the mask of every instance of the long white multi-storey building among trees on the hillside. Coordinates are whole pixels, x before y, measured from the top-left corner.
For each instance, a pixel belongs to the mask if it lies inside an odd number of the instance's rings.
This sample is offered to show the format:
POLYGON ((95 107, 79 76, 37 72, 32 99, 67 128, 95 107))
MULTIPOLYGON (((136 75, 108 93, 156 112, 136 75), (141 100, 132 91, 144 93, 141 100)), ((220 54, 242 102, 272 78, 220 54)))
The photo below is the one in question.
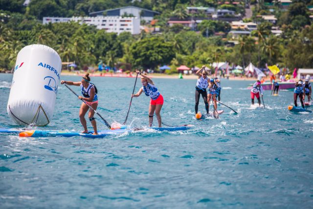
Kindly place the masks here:
POLYGON ((119 17, 119 16, 97 16, 97 17, 44 17, 43 24, 47 23, 66 23, 66 22, 86 23, 88 25, 96 25, 97 29, 104 29, 107 32, 120 34, 121 32, 130 32, 131 34, 140 33, 140 19, 134 17, 119 17))

